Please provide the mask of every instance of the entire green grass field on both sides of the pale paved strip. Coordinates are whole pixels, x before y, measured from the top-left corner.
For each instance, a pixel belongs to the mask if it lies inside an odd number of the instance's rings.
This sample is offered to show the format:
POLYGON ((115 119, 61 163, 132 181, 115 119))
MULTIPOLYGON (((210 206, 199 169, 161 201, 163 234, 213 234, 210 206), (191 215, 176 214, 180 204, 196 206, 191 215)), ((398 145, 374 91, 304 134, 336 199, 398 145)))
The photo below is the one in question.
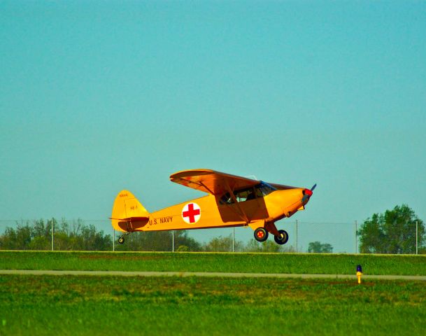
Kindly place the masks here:
MULTIPOLYGON (((0 252, 0 269, 426 274, 416 255, 0 252)), ((0 276, 0 335, 425 335, 423 281, 0 276)))

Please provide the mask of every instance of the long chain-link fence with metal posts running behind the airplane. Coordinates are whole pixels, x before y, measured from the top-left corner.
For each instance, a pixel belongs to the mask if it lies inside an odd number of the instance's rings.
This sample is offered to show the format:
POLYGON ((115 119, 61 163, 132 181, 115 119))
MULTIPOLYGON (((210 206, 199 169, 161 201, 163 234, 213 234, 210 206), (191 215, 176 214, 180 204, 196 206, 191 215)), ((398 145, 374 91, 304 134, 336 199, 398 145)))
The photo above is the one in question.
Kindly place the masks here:
MULTIPOLYGON (((423 224, 422 224, 423 225, 423 224)), ((211 252, 292 252, 360 253, 360 224, 281 221, 289 240, 278 245, 274 237, 260 243, 249 227, 133 232, 113 230, 108 220, 0 220, 0 250, 38 251, 211 251, 211 252)), ((425 253, 424 227, 409 228, 412 244, 402 253, 425 253), (415 239, 414 239, 415 237, 415 239)), ((371 251, 370 251, 371 252, 371 251)), ((390 253, 383 252, 380 253, 390 253)), ((399 252, 398 252, 399 253, 399 252)))

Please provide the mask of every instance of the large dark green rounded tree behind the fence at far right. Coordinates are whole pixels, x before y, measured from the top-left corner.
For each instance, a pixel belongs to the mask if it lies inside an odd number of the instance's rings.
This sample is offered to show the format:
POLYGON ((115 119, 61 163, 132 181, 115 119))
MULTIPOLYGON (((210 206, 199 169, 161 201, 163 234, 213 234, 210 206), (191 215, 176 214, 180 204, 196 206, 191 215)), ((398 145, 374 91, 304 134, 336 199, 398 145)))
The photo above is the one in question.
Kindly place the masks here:
POLYGON ((416 222, 418 225, 418 247, 423 251, 425 225, 406 204, 374 214, 362 224, 357 235, 360 237, 361 253, 416 253, 416 222))

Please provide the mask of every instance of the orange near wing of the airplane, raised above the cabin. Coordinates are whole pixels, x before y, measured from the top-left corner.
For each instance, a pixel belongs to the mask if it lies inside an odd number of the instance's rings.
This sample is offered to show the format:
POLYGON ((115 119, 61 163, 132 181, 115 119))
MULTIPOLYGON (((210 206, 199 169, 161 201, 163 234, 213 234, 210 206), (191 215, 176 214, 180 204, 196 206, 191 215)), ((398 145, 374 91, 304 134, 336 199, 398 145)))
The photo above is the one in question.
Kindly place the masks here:
POLYGON ((256 186, 260 181, 247 179, 246 177, 215 172, 211 169, 183 170, 170 175, 170 181, 179 183, 204 193, 222 195, 229 189, 243 189, 256 186))

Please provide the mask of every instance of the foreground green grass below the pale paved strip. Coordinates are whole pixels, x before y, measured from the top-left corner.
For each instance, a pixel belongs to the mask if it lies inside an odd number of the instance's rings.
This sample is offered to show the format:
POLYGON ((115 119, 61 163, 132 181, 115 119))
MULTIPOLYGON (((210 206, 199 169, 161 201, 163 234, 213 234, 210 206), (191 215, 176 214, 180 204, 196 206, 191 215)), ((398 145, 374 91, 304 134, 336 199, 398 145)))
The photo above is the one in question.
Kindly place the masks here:
POLYGON ((424 335, 421 282, 1 276, 0 335, 424 335))

